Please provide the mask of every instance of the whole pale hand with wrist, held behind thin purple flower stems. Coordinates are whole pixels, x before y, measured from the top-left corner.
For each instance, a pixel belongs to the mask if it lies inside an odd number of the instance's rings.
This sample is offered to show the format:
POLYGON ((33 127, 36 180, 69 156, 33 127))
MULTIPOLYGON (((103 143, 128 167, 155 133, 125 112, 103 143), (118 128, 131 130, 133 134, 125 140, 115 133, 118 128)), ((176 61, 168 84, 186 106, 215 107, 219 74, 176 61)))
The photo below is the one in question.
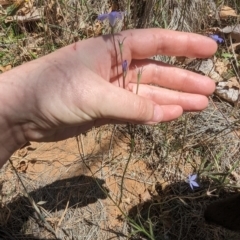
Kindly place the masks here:
POLYGON ((0 167, 27 141, 63 140, 107 123, 156 124, 207 107, 215 89, 211 79, 147 58, 207 58, 217 50, 212 39, 142 29, 118 33, 116 43, 124 38, 123 59, 130 64, 126 89, 111 35, 77 42, 0 75, 0 167), (136 95, 136 68, 142 67, 136 95))

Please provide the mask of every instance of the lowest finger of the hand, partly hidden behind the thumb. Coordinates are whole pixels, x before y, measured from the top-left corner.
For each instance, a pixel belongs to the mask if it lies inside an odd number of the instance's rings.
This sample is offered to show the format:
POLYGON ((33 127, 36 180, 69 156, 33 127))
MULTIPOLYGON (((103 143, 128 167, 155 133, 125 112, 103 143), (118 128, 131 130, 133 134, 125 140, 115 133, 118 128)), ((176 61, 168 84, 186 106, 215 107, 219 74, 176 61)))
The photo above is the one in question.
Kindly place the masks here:
MULTIPOLYGON (((137 84, 129 84, 136 92, 137 84)), ((208 98, 199 94, 176 92, 154 86, 140 84, 138 94, 158 105, 179 105, 184 111, 200 111, 208 106, 208 98)))

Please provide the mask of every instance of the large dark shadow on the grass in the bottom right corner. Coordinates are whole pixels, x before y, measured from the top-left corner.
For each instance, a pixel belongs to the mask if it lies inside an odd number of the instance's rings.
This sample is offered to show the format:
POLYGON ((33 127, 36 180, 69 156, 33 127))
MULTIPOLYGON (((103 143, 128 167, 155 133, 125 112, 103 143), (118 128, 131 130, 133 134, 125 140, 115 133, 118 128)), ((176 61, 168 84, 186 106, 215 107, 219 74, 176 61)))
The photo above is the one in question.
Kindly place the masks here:
MULTIPOLYGON (((223 190, 207 194, 209 182, 202 186, 192 191, 178 182, 162 190, 157 184, 151 199, 131 208, 129 216, 148 232, 152 229, 155 240, 239 240, 239 194, 223 190)), ((135 234, 131 239, 149 238, 135 234)))

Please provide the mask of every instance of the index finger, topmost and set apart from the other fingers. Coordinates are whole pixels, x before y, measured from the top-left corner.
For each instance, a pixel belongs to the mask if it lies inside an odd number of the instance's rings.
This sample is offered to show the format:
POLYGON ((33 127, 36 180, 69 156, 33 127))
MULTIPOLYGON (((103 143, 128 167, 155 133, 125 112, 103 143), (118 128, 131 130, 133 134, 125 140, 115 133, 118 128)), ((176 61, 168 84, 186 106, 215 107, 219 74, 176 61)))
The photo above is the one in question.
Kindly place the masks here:
POLYGON ((217 50, 209 37, 166 29, 127 30, 118 34, 124 40, 124 55, 144 59, 154 55, 206 58, 217 50), (128 55, 129 56, 129 55, 128 55))

